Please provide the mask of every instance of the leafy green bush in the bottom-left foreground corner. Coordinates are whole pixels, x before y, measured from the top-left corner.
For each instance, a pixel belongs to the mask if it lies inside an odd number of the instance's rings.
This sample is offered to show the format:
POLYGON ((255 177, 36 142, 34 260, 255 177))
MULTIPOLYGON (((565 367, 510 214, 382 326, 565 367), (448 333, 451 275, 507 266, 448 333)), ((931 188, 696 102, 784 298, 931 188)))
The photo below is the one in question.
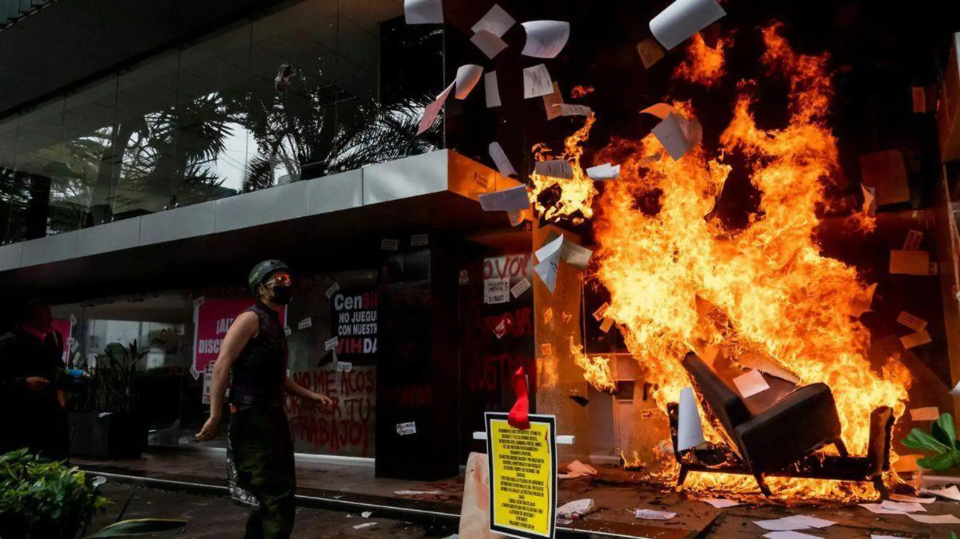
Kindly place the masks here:
MULTIPOLYGON (((4 539, 74 539, 108 504, 99 484, 77 467, 44 461, 21 449, 0 456, 0 530, 4 539)), ((88 537, 120 537, 178 529, 182 520, 137 519, 88 537)))

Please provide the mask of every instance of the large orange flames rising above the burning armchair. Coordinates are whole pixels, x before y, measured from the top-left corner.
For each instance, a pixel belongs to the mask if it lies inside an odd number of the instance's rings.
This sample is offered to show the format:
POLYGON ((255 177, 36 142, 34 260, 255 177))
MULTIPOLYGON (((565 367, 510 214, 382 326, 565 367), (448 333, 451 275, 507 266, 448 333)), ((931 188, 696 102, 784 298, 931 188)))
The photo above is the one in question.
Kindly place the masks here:
MULTIPOLYGON (((836 141, 826 123, 832 96, 827 59, 796 54, 777 26, 765 29, 763 38, 763 65, 790 86, 785 128, 757 127, 753 84, 741 83, 732 122, 720 137, 719 157, 711 159, 698 146, 674 161, 651 134, 639 141, 614 139, 594 159, 621 165, 619 179, 606 182, 601 219, 595 223, 596 276, 611 293, 605 316, 620 328, 646 381, 657 387, 660 409, 676 402, 689 385, 680 363, 689 350, 704 356, 721 350, 734 361, 750 358, 786 370, 804 384, 826 383, 847 446, 864 454, 871 412, 893 406, 900 415, 910 376, 899 358, 888 359, 880 372, 871 367, 870 334, 856 319, 870 287, 855 269, 823 256, 817 244, 816 212, 826 203, 826 182, 839 169, 836 141), (750 223, 737 230, 712 217, 732 171, 723 157, 733 154, 744 157, 761 196, 750 223)), ((690 51, 697 54, 701 43, 695 40, 690 51)), ((722 73, 722 65, 721 59, 715 74, 722 73)), ((675 105, 692 113, 687 104, 675 105)), ((592 122, 591 117, 567 140, 565 158, 579 163, 578 145, 592 122)), ((535 150, 543 158, 543 149, 535 150)), ((585 218, 592 215, 596 192, 580 167, 574 169, 575 178, 561 185, 562 202, 538 208, 547 219, 577 211, 585 218)), ((535 193, 557 183, 539 176, 534 182, 535 193)), ((585 363, 583 354, 574 352, 582 365, 606 366, 585 363)), ((599 380, 601 386, 609 382, 599 380)), ((719 439, 715 432, 711 436, 719 439)), ((688 483, 756 490, 751 478, 740 476, 691 475, 688 483)), ((786 497, 875 495, 866 484, 779 478, 770 484, 786 497)))

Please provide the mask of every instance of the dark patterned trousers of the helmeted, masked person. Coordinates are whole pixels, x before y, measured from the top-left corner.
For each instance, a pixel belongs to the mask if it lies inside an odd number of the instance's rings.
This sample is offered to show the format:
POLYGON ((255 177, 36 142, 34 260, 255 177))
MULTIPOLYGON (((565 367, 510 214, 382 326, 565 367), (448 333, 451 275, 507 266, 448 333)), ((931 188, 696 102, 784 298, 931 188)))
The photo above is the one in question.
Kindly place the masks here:
POLYGON ((294 528, 297 479, 293 438, 282 408, 230 415, 227 438, 230 495, 252 507, 245 539, 287 539, 294 528))

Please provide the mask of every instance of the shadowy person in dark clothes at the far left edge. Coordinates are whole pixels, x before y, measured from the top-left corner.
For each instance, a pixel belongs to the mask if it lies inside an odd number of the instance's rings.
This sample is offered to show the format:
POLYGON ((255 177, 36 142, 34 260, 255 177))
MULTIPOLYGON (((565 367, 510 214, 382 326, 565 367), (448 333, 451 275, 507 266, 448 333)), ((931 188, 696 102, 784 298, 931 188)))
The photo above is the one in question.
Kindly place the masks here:
POLYGON ((70 423, 58 394, 67 379, 50 306, 31 300, 20 324, 0 337, 0 453, 27 447, 40 457, 69 456, 70 423))

